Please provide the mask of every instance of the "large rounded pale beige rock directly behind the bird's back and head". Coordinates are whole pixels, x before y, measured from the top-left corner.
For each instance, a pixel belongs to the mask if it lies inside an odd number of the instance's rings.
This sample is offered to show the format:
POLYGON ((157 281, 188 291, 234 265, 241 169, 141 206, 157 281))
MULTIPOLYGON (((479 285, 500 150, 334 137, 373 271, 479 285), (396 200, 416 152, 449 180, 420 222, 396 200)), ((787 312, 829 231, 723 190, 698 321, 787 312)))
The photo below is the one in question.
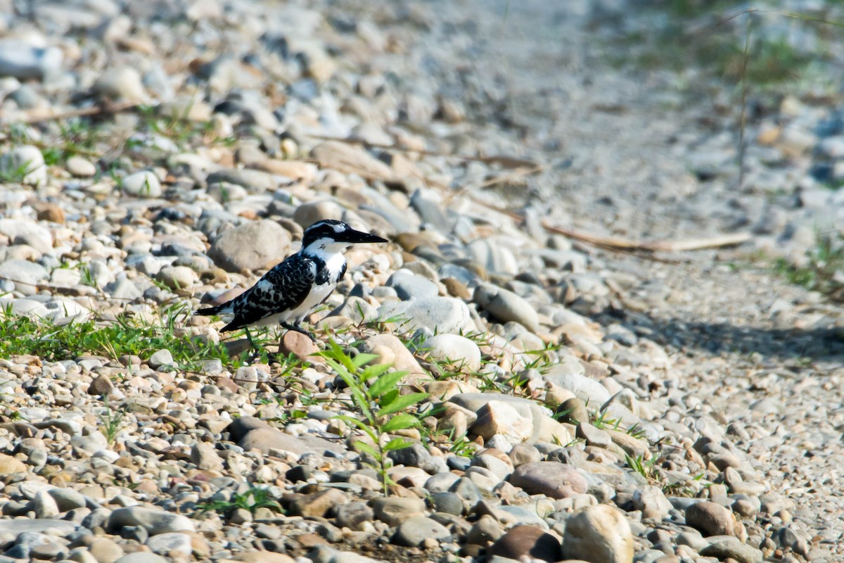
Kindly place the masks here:
POLYGON ((269 219, 226 230, 208 250, 208 257, 229 272, 257 270, 281 262, 290 251, 290 235, 269 219))

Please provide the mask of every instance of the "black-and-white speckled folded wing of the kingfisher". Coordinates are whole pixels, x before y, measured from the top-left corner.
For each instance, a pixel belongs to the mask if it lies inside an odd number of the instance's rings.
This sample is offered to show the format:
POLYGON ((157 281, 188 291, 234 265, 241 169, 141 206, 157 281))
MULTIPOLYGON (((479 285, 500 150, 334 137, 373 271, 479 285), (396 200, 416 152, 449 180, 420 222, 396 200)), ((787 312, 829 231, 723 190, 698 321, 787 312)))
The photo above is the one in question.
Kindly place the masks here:
POLYGON ((316 264, 308 257, 295 254, 284 260, 249 290, 216 307, 218 313, 235 316, 222 330, 236 330, 300 306, 311 291, 316 273, 316 264))

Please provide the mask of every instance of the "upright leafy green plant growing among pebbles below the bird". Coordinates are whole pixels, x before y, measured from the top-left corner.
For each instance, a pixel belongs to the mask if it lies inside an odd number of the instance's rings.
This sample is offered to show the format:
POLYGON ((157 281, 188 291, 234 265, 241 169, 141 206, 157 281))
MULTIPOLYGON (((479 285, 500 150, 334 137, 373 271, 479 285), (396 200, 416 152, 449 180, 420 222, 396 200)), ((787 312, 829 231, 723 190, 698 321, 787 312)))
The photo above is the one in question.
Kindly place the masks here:
POLYGON ((389 364, 371 364, 376 359, 374 354, 358 354, 354 357, 346 354, 339 344, 330 341, 328 348, 320 355, 337 372, 349 387, 352 398, 350 407, 360 413, 362 420, 340 414, 336 418, 361 430, 369 441, 356 441, 355 446, 371 457, 381 477, 384 495, 389 494, 392 480, 387 474, 390 468, 388 452, 409 447, 413 442, 402 437, 387 440, 385 435, 398 430, 407 430, 420 425, 419 418, 409 414, 407 409, 428 398, 428 393, 412 392, 402 395, 399 382, 407 375, 406 371, 389 371, 389 364))

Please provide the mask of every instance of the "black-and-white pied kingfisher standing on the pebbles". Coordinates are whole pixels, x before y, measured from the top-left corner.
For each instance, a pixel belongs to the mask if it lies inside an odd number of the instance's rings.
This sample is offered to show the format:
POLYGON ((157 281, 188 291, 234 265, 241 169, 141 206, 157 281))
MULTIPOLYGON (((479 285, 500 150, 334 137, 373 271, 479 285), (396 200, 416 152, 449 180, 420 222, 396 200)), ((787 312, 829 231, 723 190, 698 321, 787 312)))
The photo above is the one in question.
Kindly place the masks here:
POLYGON ((387 242, 387 239, 354 230, 343 221, 317 221, 305 230, 299 252, 274 266, 235 299, 200 309, 196 314, 233 315, 220 332, 247 328, 247 338, 250 326, 279 323, 314 340, 301 327, 301 322, 343 279, 346 273, 343 252, 359 242, 387 242))

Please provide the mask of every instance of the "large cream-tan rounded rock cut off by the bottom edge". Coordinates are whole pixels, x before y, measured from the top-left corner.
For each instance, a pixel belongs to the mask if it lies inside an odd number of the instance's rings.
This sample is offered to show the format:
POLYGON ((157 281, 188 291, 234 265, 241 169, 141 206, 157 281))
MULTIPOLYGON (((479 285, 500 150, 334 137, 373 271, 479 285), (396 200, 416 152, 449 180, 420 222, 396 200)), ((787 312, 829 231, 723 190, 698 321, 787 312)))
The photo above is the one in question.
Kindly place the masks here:
POLYGON ((565 521, 560 555, 592 563, 631 563, 630 524, 610 506, 587 506, 565 521))

